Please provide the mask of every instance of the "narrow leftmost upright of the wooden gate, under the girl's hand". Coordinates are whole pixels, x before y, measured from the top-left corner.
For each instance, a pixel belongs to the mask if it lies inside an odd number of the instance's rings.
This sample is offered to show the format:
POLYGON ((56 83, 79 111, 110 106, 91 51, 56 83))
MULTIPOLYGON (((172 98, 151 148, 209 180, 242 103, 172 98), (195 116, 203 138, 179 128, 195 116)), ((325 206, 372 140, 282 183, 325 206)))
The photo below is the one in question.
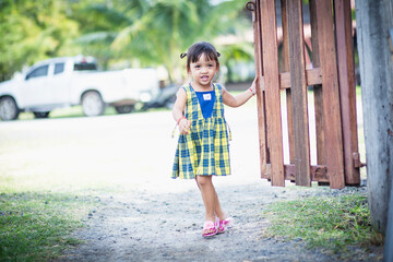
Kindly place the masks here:
POLYGON ((260 144, 260 169, 261 178, 266 178, 266 163, 269 158, 267 144, 266 144, 266 118, 265 118, 265 95, 264 95, 264 79, 262 68, 262 37, 260 26, 260 2, 252 1, 252 24, 254 34, 254 53, 255 53, 255 73, 259 76, 257 82, 257 106, 258 106, 258 130, 259 130, 259 144, 260 144))

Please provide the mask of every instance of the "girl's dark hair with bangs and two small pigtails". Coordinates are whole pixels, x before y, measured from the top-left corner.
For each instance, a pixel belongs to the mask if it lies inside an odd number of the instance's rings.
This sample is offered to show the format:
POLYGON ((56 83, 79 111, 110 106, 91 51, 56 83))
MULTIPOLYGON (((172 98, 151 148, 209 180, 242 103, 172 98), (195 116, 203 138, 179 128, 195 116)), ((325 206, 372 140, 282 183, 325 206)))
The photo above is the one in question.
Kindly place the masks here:
POLYGON ((196 62, 200 57, 204 53, 209 60, 218 62, 218 57, 221 56, 219 52, 216 51, 214 46, 207 41, 199 41, 190 46, 190 48, 186 52, 180 55, 180 58, 184 58, 187 56, 187 70, 190 69, 192 62, 196 62))

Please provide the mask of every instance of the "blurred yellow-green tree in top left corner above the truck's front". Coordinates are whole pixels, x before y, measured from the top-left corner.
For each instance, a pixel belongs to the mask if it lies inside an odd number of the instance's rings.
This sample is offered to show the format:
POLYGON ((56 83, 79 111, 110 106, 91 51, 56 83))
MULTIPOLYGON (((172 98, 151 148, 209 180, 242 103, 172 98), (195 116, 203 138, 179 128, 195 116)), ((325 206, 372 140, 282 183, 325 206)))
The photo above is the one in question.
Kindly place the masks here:
POLYGON ((78 52, 78 24, 66 8, 56 0, 0 2, 0 81, 37 60, 78 52))

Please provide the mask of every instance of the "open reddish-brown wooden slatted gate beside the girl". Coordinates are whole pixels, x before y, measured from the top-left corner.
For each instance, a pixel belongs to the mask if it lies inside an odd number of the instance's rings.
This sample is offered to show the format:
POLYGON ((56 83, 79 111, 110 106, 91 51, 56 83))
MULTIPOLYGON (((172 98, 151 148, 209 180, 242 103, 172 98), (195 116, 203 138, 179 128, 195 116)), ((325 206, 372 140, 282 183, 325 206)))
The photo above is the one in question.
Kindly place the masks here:
POLYGON ((285 180, 297 186, 318 181, 334 189, 358 186, 362 164, 350 1, 309 1, 311 46, 305 45, 302 1, 281 0, 278 7, 276 2, 253 0, 246 5, 253 13, 261 177, 278 187, 285 180), (308 50, 311 67, 306 67, 308 50), (312 108, 310 99, 314 100, 312 108), (313 164, 310 130, 315 138, 313 164), (285 146, 289 147, 287 163, 285 146))

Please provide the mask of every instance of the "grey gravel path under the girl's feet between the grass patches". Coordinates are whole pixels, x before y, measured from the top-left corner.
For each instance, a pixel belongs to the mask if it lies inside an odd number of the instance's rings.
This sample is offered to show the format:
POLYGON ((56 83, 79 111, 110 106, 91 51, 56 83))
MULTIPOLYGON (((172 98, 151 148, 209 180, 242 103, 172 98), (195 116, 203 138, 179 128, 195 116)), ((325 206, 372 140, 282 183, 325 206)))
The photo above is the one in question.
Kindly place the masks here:
MULTIPOLYGON (((319 250, 306 249, 301 239, 264 237, 269 222, 261 212, 277 200, 348 190, 288 190, 261 182, 217 187, 217 192, 235 219, 235 226, 222 235, 202 238, 203 204, 196 189, 119 194, 102 199, 104 207, 92 213, 88 228, 76 235, 86 243, 67 252, 60 261, 338 261, 319 250)), ((378 259, 377 254, 365 257, 360 252, 348 261, 378 259)))

